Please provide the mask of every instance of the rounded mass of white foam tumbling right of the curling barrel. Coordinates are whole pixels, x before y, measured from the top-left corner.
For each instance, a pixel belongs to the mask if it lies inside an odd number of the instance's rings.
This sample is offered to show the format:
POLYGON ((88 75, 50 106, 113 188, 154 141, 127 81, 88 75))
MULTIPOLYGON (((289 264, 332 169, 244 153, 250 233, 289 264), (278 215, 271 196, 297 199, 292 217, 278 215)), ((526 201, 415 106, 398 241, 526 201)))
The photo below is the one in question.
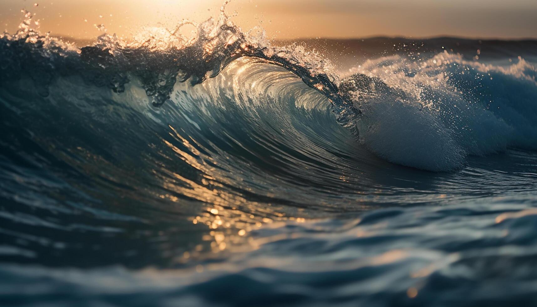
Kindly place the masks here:
POLYGON ((353 93, 360 141, 391 162, 432 171, 459 168, 468 155, 536 149, 535 72, 523 59, 498 67, 448 53, 370 60, 358 73, 388 87, 353 93))

